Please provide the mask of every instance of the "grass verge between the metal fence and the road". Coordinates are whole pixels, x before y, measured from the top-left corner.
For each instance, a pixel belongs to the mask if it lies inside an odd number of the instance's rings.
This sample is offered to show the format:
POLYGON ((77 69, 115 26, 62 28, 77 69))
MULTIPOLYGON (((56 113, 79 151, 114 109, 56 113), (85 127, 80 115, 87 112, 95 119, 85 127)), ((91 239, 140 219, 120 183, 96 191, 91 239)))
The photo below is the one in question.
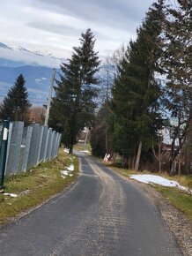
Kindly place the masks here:
POLYGON ((17 198, 0 194, 0 225, 9 223, 22 212, 36 207, 58 192, 62 192, 78 177, 78 157, 59 150, 58 157, 42 162, 26 173, 5 178, 5 193, 15 193, 17 198), (61 170, 74 165, 73 176, 61 175, 61 170))

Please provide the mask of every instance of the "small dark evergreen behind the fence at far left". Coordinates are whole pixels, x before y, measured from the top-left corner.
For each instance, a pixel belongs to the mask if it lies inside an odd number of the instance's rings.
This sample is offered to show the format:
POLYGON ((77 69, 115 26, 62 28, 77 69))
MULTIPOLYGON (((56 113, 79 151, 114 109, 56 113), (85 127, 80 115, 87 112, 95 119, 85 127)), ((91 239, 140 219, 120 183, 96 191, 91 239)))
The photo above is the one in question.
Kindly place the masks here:
POLYGON ((15 85, 10 88, 1 106, 1 118, 10 118, 11 121, 27 121, 26 112, 31 107, 28 101, 28 93, 25 87, 25 79, 22 74, 16 79, 15 85))

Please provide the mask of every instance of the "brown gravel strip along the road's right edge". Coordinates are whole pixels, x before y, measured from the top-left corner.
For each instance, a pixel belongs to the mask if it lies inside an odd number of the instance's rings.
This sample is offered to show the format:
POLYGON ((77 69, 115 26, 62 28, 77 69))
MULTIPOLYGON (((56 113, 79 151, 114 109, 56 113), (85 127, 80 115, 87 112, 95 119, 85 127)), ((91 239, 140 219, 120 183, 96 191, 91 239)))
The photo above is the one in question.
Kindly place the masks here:
POLYGON ((174 233, 177 243, 181 247, 184 256, 192 255, 192 223, 186 215, 183 215, 180 210, 171 205, 161 194, 147 184, 141 184, 137 181, 132 181, 139 185, 147 196, 159 207, 161 215, 164 217, 166 224, 174 233))

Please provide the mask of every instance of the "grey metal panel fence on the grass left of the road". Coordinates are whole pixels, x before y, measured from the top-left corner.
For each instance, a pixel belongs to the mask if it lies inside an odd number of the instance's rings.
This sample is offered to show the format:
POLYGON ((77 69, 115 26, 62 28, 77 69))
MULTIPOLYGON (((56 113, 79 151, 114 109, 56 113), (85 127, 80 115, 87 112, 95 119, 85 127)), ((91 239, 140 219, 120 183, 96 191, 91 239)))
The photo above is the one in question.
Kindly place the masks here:
POLYGON ((40 162, 55 158, 61 134, 47 125, 11 122, 7 145, 5 176, 25 172, 40 162))

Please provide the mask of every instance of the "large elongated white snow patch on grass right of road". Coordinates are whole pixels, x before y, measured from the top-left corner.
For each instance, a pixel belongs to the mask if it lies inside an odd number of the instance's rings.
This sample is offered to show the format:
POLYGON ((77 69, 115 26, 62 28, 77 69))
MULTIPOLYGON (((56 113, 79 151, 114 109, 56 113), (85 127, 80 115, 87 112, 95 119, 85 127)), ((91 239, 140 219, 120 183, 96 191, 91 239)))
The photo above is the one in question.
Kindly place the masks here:
POLYGON ((174 180, 169 180, 166 177, 160 177, 158 175, 151 174, 129 175, 129 177, 145 184, 160 184, 163 186, 176 187, 182 191, 192 194, 192 190, 190 190, 189 188, 180 185, 178 182, 174 180))

